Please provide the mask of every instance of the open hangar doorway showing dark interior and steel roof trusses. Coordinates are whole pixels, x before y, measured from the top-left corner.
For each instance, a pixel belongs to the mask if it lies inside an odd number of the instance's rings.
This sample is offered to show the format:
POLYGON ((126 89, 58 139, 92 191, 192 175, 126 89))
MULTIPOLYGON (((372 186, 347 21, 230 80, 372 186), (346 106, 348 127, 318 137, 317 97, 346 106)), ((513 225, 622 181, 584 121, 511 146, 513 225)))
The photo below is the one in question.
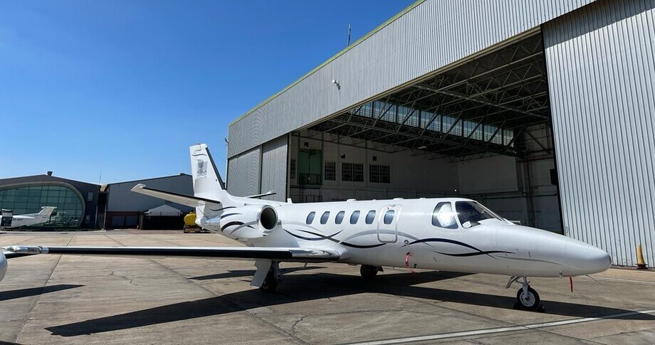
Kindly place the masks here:
POLYGON ((562 231, 540 31, 290 134, 288 196, 474 198, 562 231))

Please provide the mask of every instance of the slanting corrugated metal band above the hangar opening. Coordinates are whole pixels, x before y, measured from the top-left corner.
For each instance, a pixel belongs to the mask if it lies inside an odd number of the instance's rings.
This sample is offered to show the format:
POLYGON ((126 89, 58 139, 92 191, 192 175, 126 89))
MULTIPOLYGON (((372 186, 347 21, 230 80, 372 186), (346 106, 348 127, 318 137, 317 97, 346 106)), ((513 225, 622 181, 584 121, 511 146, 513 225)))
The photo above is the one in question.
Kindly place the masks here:
POLYGON ((593 0, 426 0, 231 124, 228 156, 420 78, 593 0), (340 90, 332 84, 339 80, 340 90))

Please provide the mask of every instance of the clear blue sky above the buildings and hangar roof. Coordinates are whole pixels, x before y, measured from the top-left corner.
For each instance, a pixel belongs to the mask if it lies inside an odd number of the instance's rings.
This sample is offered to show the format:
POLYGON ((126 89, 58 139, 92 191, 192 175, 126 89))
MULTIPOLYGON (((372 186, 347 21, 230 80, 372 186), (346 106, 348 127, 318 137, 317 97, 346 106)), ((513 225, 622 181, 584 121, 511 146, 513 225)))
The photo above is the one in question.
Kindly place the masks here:
POLYGON ((224 173, 229 122, 414 0, 2 1, 0 178, 224 173))

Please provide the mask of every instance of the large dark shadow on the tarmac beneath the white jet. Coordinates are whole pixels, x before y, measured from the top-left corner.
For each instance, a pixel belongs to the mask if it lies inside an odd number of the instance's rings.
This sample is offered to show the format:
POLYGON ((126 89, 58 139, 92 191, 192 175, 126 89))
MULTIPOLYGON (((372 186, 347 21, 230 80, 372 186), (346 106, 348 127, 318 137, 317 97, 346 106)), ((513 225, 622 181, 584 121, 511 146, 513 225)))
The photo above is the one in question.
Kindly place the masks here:
MULTIPOLYGON (((236 274, 245 274, 245 271, 235 271, 234 275, 236 274)), ((191 302, 180 302, 162 307, 143 309, 137 312, 117 314, 72 324, 63 324, 61 326, 48 327, 47 329, 53 335, 78 336, 241 312, 244 309, 255 307, 268 307, 364 292, 390 294, 399 297, 433 299, 483 307, 503 309, 511 309, 513 307, 515 303, 514 297, 413 286, 425 282, 462 277, 464 275, 468 274, 454 272, 399 273, 380 275, 372 282, 366 282, 361 277, 353 275, 335 275, 330 273, 295 275, 293 277, 285 277, 285 282, 278 289, 278 292, 274 294, 264 294, 258 289, 249 289, 191 302)), ((543 302, 546 306, 546 314, 556 314, 566 317, 655 320, 655 316, 641 313, 623 317, 612 317, 612 315, 632 312, 632 310, 567 302, 543 302)))

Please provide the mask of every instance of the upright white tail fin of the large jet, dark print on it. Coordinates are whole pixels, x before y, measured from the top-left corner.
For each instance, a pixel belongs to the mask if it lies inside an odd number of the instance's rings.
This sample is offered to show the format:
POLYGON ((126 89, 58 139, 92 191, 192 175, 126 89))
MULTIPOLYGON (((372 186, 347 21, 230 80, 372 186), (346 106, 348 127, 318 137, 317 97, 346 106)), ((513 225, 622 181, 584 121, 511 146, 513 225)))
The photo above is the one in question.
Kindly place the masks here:
MULTIPOLYGON (((194 196, 221 201, 224 207, 226 204, 229 205, 231 203, 229 193, 225 190, 225 184, 221 179, 219 170, 216 169, 216 164, 214 164, 214 159, 211 158, 207 145, 196 144, 189 147, 189 155, 191 158, 194 196)), ((203 207, 196 208, 196 214, 199 217, 207 213, 212 212, 209 209, 205 210, 203 207)))

